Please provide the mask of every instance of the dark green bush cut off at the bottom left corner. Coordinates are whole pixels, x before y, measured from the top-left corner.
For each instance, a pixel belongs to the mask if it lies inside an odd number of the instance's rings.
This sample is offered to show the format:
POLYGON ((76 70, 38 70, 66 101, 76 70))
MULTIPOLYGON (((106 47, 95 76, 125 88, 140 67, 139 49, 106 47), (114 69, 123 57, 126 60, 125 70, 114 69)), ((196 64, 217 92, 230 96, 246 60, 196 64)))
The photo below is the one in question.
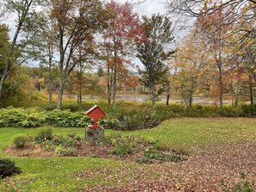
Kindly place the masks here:
POLYGON ((16 166, 15 162, 7 158, 0 158, 0 179, 20 173, 22 170, 16 166))

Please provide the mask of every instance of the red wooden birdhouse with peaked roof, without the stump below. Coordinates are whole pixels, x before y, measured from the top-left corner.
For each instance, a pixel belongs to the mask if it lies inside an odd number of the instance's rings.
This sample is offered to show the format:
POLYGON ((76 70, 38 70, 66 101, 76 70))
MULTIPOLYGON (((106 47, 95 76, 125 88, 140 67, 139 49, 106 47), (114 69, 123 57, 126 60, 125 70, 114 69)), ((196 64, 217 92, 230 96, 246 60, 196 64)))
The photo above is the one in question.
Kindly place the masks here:
POLYGON ((99 108, 97 105, 94 105, 92 108, 86 111, 85 114, 91 117, 91 119, 93 120, 93 124, 90 126, 90 128, 100 128, 100 126, 97 125, 97 121, 106 116, 103 110, 99 108))

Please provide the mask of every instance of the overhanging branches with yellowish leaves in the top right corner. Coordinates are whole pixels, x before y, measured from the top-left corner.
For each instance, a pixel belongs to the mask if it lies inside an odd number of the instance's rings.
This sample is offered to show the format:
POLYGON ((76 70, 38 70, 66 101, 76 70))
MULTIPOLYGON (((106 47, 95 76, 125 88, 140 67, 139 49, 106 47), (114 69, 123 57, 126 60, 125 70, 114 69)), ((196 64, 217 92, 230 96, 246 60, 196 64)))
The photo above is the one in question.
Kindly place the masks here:
POLYGON ((170 14, 179 14, 194 17, 206 17, 222 12, 217 22, 226 22, 227 25, 235 26, 232 33, 223 36, 229 38, 231 35, 239 36, 236 42, 242 46, 247 45, 247 40, 256 40, 255 25, 256 1, 255 0, 167 0, 166 8, 170 14))

